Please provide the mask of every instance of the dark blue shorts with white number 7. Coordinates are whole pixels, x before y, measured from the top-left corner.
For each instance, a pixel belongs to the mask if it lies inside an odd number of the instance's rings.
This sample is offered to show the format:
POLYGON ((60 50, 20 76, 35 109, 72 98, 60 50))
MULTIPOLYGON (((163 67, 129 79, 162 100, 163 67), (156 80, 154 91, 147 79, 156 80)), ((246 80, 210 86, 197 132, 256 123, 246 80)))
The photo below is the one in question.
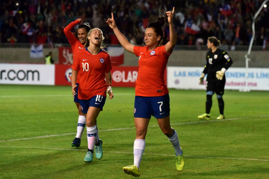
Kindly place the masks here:
POLYGON ((165 118, 170 115, 169 94, 156 97, 135 96, 135 118, 165 118))

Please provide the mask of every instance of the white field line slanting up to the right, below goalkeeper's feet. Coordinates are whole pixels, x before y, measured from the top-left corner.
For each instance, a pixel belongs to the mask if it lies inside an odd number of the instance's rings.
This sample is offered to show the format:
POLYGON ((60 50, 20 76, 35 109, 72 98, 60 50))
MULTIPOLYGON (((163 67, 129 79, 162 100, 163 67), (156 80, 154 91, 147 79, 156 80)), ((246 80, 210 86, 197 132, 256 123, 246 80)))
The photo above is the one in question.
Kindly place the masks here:
MULTIPOLYGON (((194 121, 194 122, 174 123, 174 124, 171 124, 171 126, 173 126, 173 125, 174 126, 175 125, 184 125, 184 124, 199 124, 199 123, 207 123, 207 122, 232 121, 232 120, 247 119, 247 118, 266 118, 266 117, 269 117, 269 115, 262 115, 262 116, 256 116, 256 117, 230 118, 230 119, 223 119, 223 120, 209 120, 209 121, 194 121)), ((149 127, 158 127, 158 125, 151 125, 149 127)), ((116 128, 116 129, 105 129, 105 130, 98 130, 98 131, 99 132, 107 132, 107 131, 128 130, 128 129, 135 129, 135 127, 116 128)), ((19 139, 2 140, 0 142, 21 141, 21 140, 38 139, 38 138, 48 138, 48 137, 59 137, 59 136, 75 135, 75 134, 76 133, 43 135, 43 136, 30 137, 30 138, 19 138, 19 139)))

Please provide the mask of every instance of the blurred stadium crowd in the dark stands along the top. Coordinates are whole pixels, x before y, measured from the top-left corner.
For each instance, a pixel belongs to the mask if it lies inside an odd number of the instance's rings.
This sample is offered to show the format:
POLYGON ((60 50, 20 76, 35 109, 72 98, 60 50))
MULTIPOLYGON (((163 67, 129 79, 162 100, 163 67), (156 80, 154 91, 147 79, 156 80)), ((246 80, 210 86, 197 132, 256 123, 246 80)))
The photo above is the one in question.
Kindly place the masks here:
MULTIPOLYGON (((178 45, 205 45, 217 37, 222 45, 248 45, 252 19, 263 0, 1 0, 0 42, 66 43, 63 29, 81 18, 103 30, 107 44, 119 44, 105 23, 114 12, 117 26, 131 44, 143 44, 149 22, 175 6, 178 45)), ((269 38, 268 7, 256 19, 254 45, 269 38)), ((167 17, 166 17, 167 18, 167 17)), ((76 28, 76 27, 75 27, 76 28)), ((74 29, 75 32, 76 29, 74 29)), ((169 41, 164 28, 163 44, 169 41)))

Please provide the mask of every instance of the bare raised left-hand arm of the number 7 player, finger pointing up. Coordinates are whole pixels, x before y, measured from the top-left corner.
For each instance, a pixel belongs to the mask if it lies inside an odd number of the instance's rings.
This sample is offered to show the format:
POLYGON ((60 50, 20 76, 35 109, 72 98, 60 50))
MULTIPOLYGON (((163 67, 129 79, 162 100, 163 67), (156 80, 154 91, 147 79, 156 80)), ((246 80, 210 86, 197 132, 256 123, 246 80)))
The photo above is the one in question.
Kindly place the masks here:
POLYGON ((131 53, 134 53, 134 45, 130 44, 130 42, 123 36, 123 34, 120 32, 120 30, 116 26, 113 13, 111 13, 111 18, 108 18, 106 23, 113 30, 120 44, 123 46, 123 48, 131 53))

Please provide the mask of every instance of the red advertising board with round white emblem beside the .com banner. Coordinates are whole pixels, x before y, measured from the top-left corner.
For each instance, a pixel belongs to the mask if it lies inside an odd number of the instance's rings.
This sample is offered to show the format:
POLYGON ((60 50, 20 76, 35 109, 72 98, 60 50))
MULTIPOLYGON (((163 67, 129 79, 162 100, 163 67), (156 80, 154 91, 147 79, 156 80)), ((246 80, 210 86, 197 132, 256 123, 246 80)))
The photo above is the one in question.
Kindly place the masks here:
POLYGON ((70 65, 55 64, 55 85, 71 85, 71 74, 70 65))

